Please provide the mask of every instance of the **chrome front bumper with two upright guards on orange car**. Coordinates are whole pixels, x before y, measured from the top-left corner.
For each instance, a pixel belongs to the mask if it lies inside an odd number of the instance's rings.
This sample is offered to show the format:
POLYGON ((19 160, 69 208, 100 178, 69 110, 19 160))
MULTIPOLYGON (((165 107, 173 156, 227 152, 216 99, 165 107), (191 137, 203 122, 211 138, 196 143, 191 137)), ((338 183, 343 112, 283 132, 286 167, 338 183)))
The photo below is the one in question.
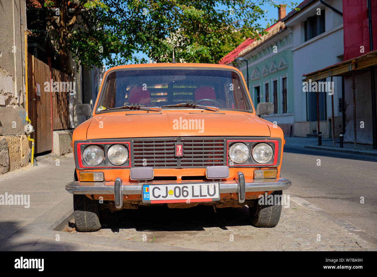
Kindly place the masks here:
MULTIPOLYGON (((210 182, 208 180, 208 182, 210 182)), ((113 194, 115 197, 115 206, 121 208, 123 205, 123 195, 142 194, 143 185, 164 185, 164 184, 202 184, 198 182, 168 182, 168 181, 150 181, 135 184, 135 182, 122 182, 117 178, 115 182, 70 182, 66 185, 66 190, 72 194, 113 194)), ((292 182, 285 178, 277 179, 253 179, 245 182, 244 174, 239 172, 236 180, 220 181, 220 193, 237 193, 238 202, 245 201, 246 192, 264 192, 287 190, 292 182)))

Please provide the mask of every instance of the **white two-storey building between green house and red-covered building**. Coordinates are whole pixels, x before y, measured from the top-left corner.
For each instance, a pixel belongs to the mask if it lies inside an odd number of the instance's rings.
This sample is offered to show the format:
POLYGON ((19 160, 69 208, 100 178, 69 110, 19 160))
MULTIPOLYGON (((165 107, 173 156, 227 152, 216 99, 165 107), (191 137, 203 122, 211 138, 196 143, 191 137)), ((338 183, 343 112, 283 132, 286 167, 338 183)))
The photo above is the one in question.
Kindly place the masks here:
MULTIPOLYGON (((306 0, 286 17, 285 27, 292 33, 294 135, 307 137, 317 134, 317 95, 319 93, 319 121, 323 138, 331 137, 331 93, 327 89, 331 78, 316 80, 316 87, 306 89, 303 74, 343 61, 342 1, 326 1, 331 8, 317 0, 306 0), (336 11, 335 11, 336 10, 336 11), (326 82, 326 83, 325 83, 326 82), (319 86, 318 86, 319 84, 319 86)), ((313 82, 313 86, 314 83, 313 82)), ((334 101, 342 103, 342 78, 333 77, 334 101)), ((342 129, 342 111, 334 110, 337 134, 342 129)))

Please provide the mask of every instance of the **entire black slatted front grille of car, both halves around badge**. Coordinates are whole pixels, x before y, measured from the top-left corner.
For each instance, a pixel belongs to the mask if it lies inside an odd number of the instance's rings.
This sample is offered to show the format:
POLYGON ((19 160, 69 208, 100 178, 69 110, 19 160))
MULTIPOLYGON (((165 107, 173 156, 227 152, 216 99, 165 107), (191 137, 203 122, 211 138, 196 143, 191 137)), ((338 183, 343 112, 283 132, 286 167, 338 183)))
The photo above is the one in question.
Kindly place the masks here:
POLYGON ((224 165, 224 145, 220 138, 134 139, 133 165, 173 168, 224 165), (182 157, 174 155, 175 142, 183 145, 182 157))

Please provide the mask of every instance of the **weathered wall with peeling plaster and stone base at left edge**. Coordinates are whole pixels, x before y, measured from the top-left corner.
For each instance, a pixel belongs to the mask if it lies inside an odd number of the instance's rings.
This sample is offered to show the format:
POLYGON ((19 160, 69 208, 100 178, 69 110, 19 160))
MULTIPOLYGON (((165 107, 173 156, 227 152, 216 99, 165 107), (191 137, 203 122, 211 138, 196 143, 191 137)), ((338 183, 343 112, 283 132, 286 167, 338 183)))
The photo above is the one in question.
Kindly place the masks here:
POLYGON ((0 174, 29 164, 29 142, 24 132, 25 0, 0 1, 0 174))

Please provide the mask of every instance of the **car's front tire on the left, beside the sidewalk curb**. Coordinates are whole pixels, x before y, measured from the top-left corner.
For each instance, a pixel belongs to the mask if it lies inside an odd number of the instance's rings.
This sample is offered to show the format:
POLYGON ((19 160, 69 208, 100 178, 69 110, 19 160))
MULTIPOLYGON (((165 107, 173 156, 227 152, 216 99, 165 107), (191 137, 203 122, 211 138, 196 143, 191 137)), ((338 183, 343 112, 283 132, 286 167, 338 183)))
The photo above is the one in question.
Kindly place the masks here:
POLYGON ((101 229, 97 200, 89 199, 84 194, 74 194, 73 208, 77 231, 93 232, 101 229))

